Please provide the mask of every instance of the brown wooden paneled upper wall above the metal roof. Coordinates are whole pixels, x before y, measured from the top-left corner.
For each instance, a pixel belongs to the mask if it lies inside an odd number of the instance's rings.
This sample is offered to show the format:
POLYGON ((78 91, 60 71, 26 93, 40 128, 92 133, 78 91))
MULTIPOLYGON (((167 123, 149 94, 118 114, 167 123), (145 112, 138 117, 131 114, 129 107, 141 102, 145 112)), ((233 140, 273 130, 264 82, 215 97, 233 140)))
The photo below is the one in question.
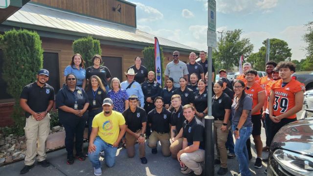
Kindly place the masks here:
POLYGON ((31 0, 51 7, 86 14, 135 27, 135 6, 119 0, 31 0), (121 5, 121 13, 112 7, 121 5))

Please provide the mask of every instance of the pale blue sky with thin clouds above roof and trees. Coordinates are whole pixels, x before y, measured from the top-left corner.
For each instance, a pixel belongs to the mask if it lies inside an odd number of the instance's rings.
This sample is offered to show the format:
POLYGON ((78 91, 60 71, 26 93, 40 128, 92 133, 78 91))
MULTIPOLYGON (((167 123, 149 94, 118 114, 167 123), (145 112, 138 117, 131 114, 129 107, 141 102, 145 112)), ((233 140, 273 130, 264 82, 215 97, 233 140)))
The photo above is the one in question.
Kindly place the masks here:
MULTIPOLYGON (((139 30, 207 50, 207 0, 128 0, 136 4, 139 30)), ((284 40, 291 59, 306 56, 305 24, 313 21, 313 0, 216 0, 217 31, 243 30, 258 52, 267 38, 284 40)), ((217 33, 218 40, 221 37, 217 33)))

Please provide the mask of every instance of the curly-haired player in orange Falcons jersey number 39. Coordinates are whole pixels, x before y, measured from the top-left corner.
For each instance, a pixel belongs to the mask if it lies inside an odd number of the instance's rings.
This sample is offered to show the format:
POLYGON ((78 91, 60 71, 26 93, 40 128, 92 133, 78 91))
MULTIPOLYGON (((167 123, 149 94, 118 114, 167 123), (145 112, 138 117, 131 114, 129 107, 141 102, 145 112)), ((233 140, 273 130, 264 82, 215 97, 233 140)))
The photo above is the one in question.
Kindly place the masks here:
POLYGON ((268 110, 269 118, 273 122, 268 134, 269 144, 274 135, 284 125, 296 121, 296 113, 302 109, 305 87, 291 75, 295 72, 292 62, 280 62, 277 65, 280 80, 271 86, 268 110))

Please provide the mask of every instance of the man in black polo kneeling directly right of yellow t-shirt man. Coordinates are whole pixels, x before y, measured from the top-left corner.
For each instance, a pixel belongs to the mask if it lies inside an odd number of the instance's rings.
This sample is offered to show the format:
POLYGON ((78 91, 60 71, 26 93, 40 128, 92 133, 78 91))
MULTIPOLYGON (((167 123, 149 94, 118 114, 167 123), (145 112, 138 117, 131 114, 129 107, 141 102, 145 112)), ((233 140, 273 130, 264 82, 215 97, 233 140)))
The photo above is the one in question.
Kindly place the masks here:
POLYGON ((146 111, 137 106, 138 97, 131 95, 129 98, 129 109, 122 114, 125 118, 126 124, 126 150, 128 157, 134 157, 134 145, 136 140, 139 144, 139 157, 142 164, 147 164, 145 152, 145 136, 147 125, 146 111))

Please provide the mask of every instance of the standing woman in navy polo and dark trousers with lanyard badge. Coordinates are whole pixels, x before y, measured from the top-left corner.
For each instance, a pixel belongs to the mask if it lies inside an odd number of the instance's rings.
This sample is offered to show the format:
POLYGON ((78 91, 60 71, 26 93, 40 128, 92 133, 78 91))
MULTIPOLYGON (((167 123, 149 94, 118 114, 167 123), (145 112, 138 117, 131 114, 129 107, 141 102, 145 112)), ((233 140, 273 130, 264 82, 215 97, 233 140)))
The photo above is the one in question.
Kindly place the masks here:
POLYGON ((66 76, 66 85, 59 90, 55 98, 59 112, 59 121, 65 128, 65 148, 67 150, 67 164, 74 162, 74 136, 76 157, 83 161, 83 135, 88 118, 88 96, 83 88, 76 86, 76 76, 72 73, 66 76))

